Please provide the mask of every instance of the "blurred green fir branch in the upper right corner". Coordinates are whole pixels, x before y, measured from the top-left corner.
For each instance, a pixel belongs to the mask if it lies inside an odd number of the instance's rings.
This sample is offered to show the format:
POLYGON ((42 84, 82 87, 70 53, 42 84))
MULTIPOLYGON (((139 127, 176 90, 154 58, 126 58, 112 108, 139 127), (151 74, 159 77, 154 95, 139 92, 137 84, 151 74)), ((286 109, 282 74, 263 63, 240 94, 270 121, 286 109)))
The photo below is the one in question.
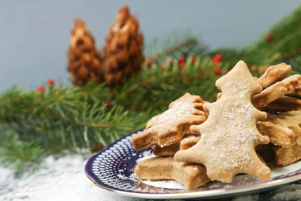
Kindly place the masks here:
POLYGON ((300 19, 301 6, 264 32, 257 42, 245 47, 219 48, 209 55, 221 54, 232 66, 239 60, 244 60, 248 66, 287 62, 286 59, 301 54, 300 19), (273 35, 273 40, 266 40, 268 34, 273 35))

